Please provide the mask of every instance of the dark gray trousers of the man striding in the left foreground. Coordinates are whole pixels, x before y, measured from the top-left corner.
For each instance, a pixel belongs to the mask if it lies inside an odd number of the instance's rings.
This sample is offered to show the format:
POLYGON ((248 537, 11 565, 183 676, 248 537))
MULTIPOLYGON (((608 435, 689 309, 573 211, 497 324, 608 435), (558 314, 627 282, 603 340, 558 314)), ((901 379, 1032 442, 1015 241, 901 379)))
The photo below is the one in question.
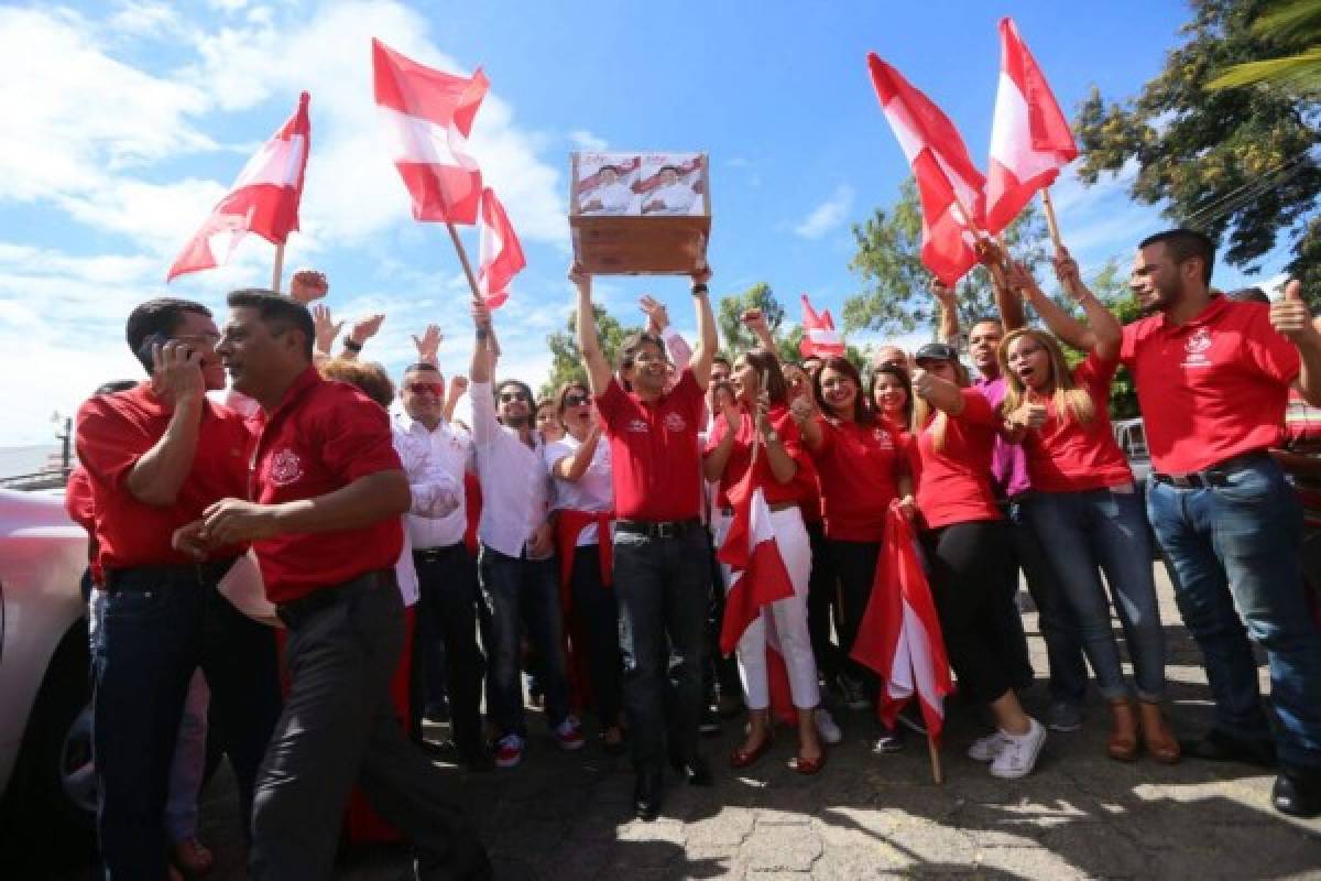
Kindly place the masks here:
POLYGON ((452 785, 407 740, 390 700, 404 637, 394 573, 325 589, 336 592, 329 602, 281 606, 289 693, 258 774, 251 876, 329 878, 357 783, 413 844, 417 877, 490 877, 452 785))

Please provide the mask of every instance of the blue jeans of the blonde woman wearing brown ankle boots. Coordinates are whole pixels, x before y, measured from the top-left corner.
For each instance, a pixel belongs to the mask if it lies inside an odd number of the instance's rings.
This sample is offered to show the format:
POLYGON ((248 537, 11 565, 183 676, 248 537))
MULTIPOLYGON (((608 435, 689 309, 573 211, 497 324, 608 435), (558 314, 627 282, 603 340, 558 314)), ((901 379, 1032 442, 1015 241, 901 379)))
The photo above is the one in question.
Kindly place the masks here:
POLYGON ((1107 700, 1128 696, 1119 645, 1110 623, 1111 600, 1133 662, 1137 697, 1159 701, 1165 695, 1165 631, 1156 604, 1152 547, 1136 491, 1108 489, 1082 493, 1036 493, 1028 515, 1065 601, 1073 610, 1083 650, 1107 700), (1100 572, 1111 597, 1106 596, 1100 572))

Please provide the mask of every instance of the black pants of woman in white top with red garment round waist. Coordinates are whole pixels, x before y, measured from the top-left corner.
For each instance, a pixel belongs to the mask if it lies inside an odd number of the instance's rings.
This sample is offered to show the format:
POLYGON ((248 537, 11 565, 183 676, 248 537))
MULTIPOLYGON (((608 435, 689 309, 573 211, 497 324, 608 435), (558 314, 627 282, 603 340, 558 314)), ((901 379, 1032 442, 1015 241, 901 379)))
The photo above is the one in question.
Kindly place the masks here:
POLYGON ((614 589, 601 581, 601 546, 580 544, 573 551, 573 618, 577 633, 587 643, 588 675, 592 699, 601 728, 620 724, 620 604, 614 589))

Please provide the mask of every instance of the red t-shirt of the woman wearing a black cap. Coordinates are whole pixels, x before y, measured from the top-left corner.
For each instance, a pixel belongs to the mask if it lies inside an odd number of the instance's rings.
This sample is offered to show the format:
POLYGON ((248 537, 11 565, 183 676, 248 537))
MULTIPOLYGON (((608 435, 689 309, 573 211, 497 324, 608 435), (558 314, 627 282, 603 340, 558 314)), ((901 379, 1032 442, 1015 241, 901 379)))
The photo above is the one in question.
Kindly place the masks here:
POLYGON ((962 394, 963 412, 947 417, 941 452, 933 448, 934 417, 917 437, 922 457, 917 506, 933 530, 1003 516, 991 487, 991 453, 1000 416, 976 388, 964 388, 962 394))

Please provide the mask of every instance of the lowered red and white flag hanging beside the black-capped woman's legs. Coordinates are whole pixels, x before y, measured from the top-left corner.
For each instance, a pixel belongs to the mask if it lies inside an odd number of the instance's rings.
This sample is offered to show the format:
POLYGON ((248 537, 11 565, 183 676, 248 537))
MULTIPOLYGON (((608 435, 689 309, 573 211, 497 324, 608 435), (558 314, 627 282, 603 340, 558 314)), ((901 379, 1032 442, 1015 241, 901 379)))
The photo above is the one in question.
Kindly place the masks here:
POLYGON ((881 700, 876 708, 881 721, 893 728, 900 711, 915 696, 926 730, 931 741, 939 744, 945 696, 954 691, 954 684, 941 619, 917 559, 913 527, 898 505, 890 505, 881 547, 872 597, 859 623, 852 658, 881 678, 881 700))

